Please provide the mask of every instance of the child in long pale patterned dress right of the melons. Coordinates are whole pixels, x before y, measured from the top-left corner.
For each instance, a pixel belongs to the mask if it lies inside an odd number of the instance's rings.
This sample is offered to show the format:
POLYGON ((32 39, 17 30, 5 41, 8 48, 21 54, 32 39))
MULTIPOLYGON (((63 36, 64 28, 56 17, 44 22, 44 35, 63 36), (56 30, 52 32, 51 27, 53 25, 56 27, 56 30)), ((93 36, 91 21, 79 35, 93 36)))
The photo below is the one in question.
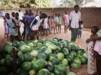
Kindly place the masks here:
MULTIPOLYGON (((98 27, 93 26, 91 29, 91 36, 95 37, 97 36, 96 33, 98 31, 98 27)), ((88 50, 88 74, 93 75, 96 72, 96 63, 94 59, 94 46, 95 46, 95 41, 88 41, 87 40, 87 50, 88 50)))

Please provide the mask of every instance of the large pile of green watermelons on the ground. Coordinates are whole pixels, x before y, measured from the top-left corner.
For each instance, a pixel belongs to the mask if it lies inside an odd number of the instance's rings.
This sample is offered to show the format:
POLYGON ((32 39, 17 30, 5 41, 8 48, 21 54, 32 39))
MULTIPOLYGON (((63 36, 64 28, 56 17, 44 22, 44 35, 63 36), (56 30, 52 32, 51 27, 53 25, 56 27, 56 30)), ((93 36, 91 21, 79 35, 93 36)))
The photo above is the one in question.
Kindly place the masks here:
POLYGON ((0 58, 2 75, 76 75, 87 63, 84 49, 67 40, 7 42, 0 58))

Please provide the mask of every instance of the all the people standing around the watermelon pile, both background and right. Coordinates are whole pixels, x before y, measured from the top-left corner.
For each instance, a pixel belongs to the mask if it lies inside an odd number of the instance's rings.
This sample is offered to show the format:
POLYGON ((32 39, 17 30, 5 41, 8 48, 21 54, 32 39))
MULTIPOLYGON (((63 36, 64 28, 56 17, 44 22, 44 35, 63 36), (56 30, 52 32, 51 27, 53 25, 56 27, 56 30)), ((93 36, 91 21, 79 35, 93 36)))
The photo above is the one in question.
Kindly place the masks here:
MULTIPOLYGON (((71 41, 75 42, 77 38, 82 36, 83 21, 78 5, 74 6, 74 10, 68 15, 55 13, 47 15, 43 12, 36 14, 28 9, 24 12, 5 13, 4 26, 5 34, 11 41, 14 40, 32 40, 39 39, 39 36, 47 36, 51 33, 61 33, 62 25, 64 32, 67 29, 71 31, 71 41)), ((91 36, 86 41, 88 52, 88 74, 101 74, 101 29, 97 26, 91 28, 91 36), (96 61, 96 64, 95 64, 96 61)))

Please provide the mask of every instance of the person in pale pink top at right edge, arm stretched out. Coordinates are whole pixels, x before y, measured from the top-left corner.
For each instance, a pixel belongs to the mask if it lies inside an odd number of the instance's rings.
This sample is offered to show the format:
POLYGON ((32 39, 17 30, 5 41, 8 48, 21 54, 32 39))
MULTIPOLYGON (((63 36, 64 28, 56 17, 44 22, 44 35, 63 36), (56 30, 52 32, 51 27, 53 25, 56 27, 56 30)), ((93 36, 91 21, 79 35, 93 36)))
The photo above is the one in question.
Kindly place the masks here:
POLYGON ((95 75, 101 75, 101 29, 99 29, 96 33, 97 36, 91 37, 87 40, 87 42, 95 41, 94 46, 94 57, 96 59, 96 69, 97 72, 95 75))

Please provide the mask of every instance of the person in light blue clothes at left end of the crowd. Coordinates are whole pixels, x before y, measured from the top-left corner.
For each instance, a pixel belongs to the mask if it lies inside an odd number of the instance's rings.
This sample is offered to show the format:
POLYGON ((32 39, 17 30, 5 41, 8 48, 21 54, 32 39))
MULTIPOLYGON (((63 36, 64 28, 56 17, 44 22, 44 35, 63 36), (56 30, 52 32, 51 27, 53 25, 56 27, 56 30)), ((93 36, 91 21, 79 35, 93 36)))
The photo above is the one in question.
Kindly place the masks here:
POLYGON ((9 13, 6 13, 5 17, 6 17, 6 22, 7 22, 7 25, 8 25, 10 40, 14 41, 15 38, 17 37, 16 26, 15 26, 12 18, 10 18, 9 13))

